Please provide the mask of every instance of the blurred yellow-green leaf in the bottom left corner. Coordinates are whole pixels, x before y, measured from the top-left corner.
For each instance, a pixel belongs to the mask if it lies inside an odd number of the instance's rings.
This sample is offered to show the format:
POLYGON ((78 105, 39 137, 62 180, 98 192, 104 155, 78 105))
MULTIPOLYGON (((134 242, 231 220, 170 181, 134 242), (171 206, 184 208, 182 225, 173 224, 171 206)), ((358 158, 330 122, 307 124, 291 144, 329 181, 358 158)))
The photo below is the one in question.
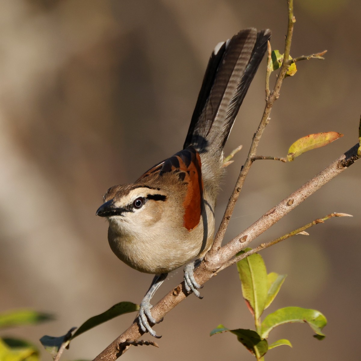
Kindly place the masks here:
MULTIPOLYGON (((10 340, 10 339, 7 339, 10 340)), ((1 361, 38 361, 38 350, 26 343, 17 340, 17 347, 12 347, 6 340, 0 339, 0 360, 1 361)))

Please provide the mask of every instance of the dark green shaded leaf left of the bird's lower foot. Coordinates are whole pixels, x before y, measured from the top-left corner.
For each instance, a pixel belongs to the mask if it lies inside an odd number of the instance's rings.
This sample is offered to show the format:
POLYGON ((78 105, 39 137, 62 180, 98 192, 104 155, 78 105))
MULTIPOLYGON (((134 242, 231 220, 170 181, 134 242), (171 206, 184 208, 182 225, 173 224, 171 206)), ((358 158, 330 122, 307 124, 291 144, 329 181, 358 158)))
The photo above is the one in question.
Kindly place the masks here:
POLYGON ((116 305, 110 307, 105 312, 103 312, 99 315, 93 316, 93 317, 89 318, 87 321, 85 321, 78 328, 78 330, 75 332, 73 337, 71 337, 71 339, 79 336, 80 334, 82 334, 85 331, 92 329, 95 326, 100 325, 101 323, 109 321, 110 319, 112 319, 114 317, 120 316, 121 314, 124 314, 124 313, 135 312, 138 310, 139 310, 139 305, 136 305, 135 303, 119 302, 116 305))

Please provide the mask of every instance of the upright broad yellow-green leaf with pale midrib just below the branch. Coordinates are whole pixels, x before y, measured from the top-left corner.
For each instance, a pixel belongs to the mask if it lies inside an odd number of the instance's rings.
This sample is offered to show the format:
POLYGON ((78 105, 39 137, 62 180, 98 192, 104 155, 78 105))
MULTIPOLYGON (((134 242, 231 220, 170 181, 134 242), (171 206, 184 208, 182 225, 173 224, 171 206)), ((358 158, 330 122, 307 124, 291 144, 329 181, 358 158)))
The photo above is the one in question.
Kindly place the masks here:
MULTIPOLYGON (((246 248, 241 253, 249 251, 246 248)), ((265 263, 258 253, 237 262, 239 279, 242 282, 242 294, 246 304, 256 319, 261 317, 267 298, 267 271, 265 263)))

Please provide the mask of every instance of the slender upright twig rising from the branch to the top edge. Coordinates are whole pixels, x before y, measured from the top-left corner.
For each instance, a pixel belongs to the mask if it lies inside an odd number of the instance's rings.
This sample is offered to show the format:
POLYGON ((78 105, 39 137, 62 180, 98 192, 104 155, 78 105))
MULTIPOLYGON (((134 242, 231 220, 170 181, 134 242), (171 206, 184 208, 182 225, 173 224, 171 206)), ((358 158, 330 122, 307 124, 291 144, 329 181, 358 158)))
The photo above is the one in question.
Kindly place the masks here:
MULTIPOLYGON (((286 42, 285 42, 285 47, 284 47, 284 59, 288 59, 288 57, 290 55, 291 40, 292 40, 292 33, 293 33, 293 23, 296 22, 296 19, 293 16, 293 0, 287 0, 287 4, 288 4, 288 27, 287 27, 287 36, 286 36, 286 42)), ((222 241, 223 241, 224 235, 226 233, 229 221, 231 219, 231 216, 232 216, 232 213, 234 210, 234 206, 236 204, 236 201, 238 200, 239 193, 242 190, 245 177, 247 176, 249 169, 251 168, 251 165, 253 162, 252 157, 256 156, 256 151, 257 151, 257 147, 260 142, 261 136, 265 130, 266 125, 269 122, 269 115, 271 113, 273 103, 279 97, 279 91, 280 91, 283 79, 286 75, 288 66, 290 64, 291 64, 290 61, 286 61, 286 60, 283 61, 281 70, 279 72, 277 81, 276 81, 274 89, 273 89, 273 93, 266 99, 266 106, 265 106, 265 110, 263 112, 263 116, 262 116, 260 125, 258 126, 258 129, 257 129, 255 135, 253 136, 251 148, 249 149, 247 159, 240 171, 238 180, 237 180, 234 190, 231 194, 231 197, 228 201, 225 214, 223 215, 222 222, 219 225, 217 234, 214 237, 214 242, 213 242, 212 248, 209 251, 209 256, 214 255, 214 253, 216 253, 222 245, 222 241)))

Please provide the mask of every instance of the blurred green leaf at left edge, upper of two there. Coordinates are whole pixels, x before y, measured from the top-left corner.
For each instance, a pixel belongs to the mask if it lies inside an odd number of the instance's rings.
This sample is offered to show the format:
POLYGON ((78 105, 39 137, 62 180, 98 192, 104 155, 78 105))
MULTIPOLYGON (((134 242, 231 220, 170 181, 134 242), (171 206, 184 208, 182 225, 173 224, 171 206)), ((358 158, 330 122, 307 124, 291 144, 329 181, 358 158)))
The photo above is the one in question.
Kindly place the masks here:
POLYGON ((29 309, 11 310, 0 313, 0 327, 36 325, 52 319, 54 319, 53 316, 48 313, 40 313, 29 309))

